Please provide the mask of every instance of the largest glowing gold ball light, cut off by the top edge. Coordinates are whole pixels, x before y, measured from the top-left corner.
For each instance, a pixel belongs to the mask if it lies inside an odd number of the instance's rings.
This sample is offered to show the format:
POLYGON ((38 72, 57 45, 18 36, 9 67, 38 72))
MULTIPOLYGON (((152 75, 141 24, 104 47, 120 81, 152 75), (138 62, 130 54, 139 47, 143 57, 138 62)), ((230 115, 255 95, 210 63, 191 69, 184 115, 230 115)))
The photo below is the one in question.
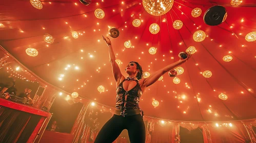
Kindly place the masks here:
POLYGON ((174 0, 143 0, 145 10, 154 16, 166 14, 173 6, 174 0))

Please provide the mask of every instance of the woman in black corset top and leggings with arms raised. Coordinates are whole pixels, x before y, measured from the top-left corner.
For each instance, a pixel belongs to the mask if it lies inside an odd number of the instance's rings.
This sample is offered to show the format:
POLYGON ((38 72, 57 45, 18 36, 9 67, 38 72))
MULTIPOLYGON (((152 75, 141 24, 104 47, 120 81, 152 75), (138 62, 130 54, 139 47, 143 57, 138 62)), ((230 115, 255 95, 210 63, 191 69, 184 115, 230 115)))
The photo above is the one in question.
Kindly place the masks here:
POLYGON ((181 59, 178 62, 155 71, 155 73, 146 79, 142 79, 143 71, 140 64, 130 62, 125 69, 127 73, 127 77, 125 78, 115 62, 115 55, 110 39, 108 37, 107 39, 104 36, 102 37, 109 47, 109 58, 116 83, 116 110, 110 120, 102 127, 94 142, 113 142, 124 129, 127 129, 131 143, 143 143, 145 142, 146 131, 139 107, 142 93, 146 87, 155 83, 167 71, 186 62, 191 55, 186 59, 181 59))

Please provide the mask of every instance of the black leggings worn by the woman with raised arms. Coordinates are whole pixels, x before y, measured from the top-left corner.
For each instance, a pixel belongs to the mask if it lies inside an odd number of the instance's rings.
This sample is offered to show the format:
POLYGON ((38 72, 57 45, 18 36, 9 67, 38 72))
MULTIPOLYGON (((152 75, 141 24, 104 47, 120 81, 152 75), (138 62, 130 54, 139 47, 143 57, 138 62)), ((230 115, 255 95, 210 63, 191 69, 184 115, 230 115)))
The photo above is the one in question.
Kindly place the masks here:
POLYGON ((127 129, 131 143, 144 143, 146 130, 141 114, 131 116, 113 115, 102 127, 94 143, 111 143, 127 129))

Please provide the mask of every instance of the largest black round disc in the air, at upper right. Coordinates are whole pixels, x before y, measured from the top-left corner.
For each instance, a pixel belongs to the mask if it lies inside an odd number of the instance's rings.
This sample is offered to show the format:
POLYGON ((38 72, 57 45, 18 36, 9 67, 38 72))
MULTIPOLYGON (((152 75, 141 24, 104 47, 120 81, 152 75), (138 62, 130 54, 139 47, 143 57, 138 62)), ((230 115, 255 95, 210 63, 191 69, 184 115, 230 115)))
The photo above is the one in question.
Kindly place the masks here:
POLYGON ((227 11, 223 6, 213 6, 204 14, 204 22, 209 26, 218 26, 227 18, 227 11))

